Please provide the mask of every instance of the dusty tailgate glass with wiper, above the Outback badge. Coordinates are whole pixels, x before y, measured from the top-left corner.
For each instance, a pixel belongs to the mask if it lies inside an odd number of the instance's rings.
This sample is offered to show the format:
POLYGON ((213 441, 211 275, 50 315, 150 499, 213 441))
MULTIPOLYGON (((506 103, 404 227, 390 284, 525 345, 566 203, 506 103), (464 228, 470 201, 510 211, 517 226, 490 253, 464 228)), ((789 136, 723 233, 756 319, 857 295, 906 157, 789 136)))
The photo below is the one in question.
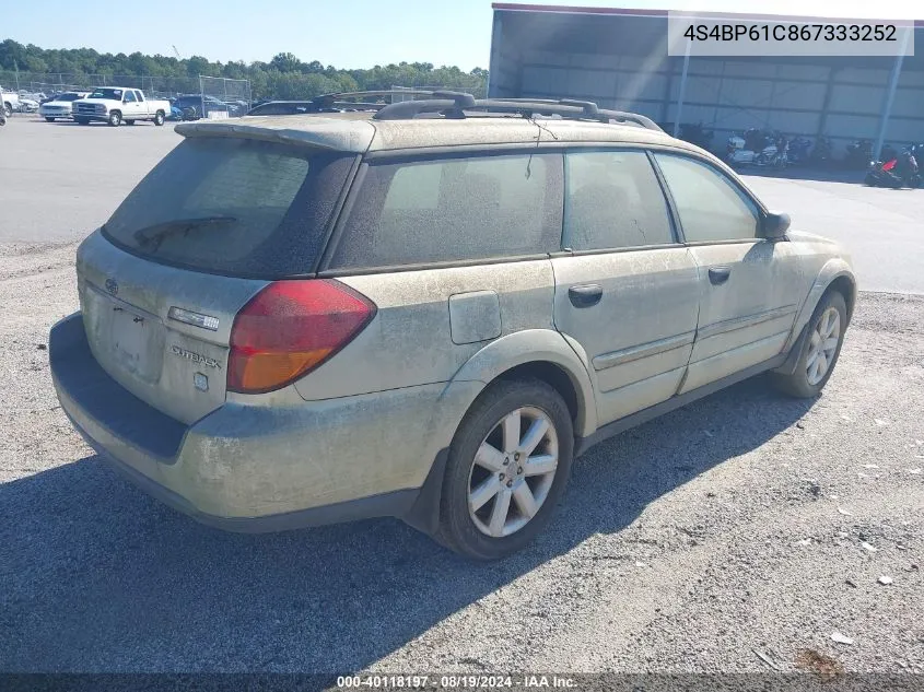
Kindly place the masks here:
POLYGON ((353 156, 190 138, 134 188, 104 233, 156 261, 231 275, 308 273, 353 156))

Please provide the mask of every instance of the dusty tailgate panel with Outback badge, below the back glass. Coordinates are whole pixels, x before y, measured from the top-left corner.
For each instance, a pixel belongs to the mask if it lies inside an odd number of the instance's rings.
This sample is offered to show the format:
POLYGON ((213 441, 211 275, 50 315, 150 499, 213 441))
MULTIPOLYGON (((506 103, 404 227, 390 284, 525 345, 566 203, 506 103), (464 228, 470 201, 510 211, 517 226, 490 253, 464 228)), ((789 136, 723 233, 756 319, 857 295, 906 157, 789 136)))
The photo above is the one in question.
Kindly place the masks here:
POLYGON ((113 379, 187 424, 224 403, 234 316, 266 281, 141 259, 98 231, 77 271, 90 349, 113 379))

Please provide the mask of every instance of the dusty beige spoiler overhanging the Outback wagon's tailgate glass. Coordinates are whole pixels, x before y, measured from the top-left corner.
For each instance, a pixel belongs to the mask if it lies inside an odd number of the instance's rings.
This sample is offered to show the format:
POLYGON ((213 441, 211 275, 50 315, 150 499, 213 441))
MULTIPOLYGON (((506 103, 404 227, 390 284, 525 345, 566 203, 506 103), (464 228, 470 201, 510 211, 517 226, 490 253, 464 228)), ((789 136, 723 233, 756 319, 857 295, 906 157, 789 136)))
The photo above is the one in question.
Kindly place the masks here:
MULTIPOLYGON (((283 122, 280 122, 281 125, 283 122)), ((291 126, 291 119, 285 118, 284 125, 291 126)), ((183 137, 231 137, 358 154, 369 149, 375 134, 375 127, 364 120, 334 120, 317 116, 313 117, 311 126, 305 129, 274 127, 273 124, 266 121, 259 125, 246 125, 213 120, 180 122, 174 130, 183 137)))

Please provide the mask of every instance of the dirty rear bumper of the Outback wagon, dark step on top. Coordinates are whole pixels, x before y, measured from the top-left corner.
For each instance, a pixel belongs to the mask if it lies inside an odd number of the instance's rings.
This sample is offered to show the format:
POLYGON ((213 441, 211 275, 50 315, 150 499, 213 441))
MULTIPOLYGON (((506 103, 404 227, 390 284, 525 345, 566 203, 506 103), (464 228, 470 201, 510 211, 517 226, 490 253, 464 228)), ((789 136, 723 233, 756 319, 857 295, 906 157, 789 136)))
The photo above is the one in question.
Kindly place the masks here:
POLYGON ((80 313, 51 329, 49 360, 61 408, 90 446, 147 493, 227 530, 405 517, 445 446, 420 425, 444 385, 294 408, 229 402, 187 426, 103 371, 80 313))

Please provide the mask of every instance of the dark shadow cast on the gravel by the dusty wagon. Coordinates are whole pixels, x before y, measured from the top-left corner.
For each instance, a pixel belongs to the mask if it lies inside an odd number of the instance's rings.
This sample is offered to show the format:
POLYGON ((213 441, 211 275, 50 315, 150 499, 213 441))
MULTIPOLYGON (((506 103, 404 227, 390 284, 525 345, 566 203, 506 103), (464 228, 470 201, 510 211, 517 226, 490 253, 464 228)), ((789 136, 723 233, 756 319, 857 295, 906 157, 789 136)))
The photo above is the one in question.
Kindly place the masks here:
POLYGON ((221 532, 97 457, 5 483, 0 670, 359 670, 588 537, 620 531, 811 406, 758 378, 601 443, 575 464, 549 530, 488 565, 391 519, 221 532))

